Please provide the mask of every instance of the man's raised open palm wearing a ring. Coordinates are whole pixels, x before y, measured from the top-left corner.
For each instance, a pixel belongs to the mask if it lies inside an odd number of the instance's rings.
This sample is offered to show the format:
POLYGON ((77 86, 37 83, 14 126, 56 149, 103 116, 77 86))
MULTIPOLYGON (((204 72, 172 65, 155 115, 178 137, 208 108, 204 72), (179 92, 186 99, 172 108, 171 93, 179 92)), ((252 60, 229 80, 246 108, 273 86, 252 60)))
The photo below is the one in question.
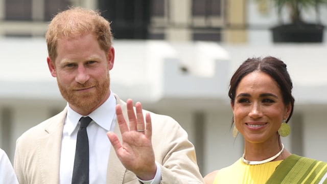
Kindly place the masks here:
POLYGON ((146 114, 146 124, 142 113, 142 105, 135 103, 136 116, 133 101, 127 100, 127 114, 129 127, 123 116, 120 105, 116 105, 116 116, 122 133, 122 143, 113 132, 107 132, 107 136, 124 167, 142 180, 151 180, 156 173, 156 164, 152 148, 151 136, 152 125, 150 113, 146 114))

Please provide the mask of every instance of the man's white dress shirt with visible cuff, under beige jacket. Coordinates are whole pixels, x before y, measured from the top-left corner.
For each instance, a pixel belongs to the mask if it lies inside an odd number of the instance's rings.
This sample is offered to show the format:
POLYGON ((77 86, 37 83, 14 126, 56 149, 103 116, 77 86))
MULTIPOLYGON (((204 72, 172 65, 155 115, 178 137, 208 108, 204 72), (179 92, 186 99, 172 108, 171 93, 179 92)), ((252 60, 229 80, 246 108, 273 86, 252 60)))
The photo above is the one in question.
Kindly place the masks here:
MULTIPOLYGON (((87 126, 89 142, 89 183, 106 183, 107 166, 111 143, 107 137, 108 131, 114 131, 116 123, 116 99, 112 91, 109 98, 88 116, 93 120, 87 126)), ((77 132, 80 127, 81 114, 75 112, 67 104, 67 116, 63 125, 59 183, 72 183, 77 132)), ((155 178, 142 181, 145 184, 160 183, 161 170, 157 164, 155 178)))

